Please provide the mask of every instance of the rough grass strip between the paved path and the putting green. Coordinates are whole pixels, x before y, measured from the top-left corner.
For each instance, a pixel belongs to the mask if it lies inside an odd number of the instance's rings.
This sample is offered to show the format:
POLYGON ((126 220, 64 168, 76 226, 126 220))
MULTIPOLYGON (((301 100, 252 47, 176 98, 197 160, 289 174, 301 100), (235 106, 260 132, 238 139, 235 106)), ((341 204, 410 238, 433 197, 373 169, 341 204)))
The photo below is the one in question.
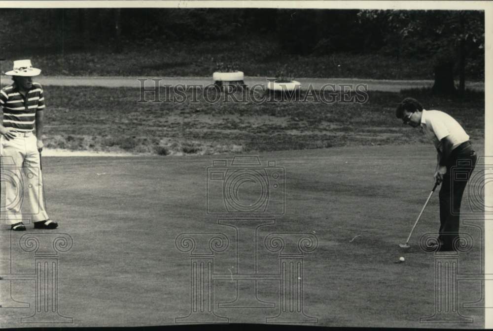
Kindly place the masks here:
MULTIPOLYGON (((428 143, 395 118, 395 106, 405 96, 419 98, 426 109, 451 114, 473 140, 484 138, 482 93, 456 99, 434 97, 428 90, 370 92, 365 103, 330 104, 313 97, 307 102, 255 103, 250 92, 247 102, 237 103, 234 98, 242 100, 241 93, 188 90, 183 97, 165 89, 160 92, 163 102, 138 102, 140 93, 131 88, 46 87, 45 145, 180 155, 428 143), (174 97, 180 102, 164 102, 174 97)), ((145 98, 154 96, 147 93, 145 98)))

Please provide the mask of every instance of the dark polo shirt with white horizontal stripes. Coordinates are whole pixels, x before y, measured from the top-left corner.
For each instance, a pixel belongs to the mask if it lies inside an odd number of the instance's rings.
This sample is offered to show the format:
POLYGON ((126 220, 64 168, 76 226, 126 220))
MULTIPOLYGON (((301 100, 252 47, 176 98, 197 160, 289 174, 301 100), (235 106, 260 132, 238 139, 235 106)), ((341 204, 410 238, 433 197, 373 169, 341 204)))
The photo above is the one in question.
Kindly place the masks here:
POLYGON ((3 108, 3 126, 16 131, 28 132, 35 128, 36 112, 44 109, 43 88, 33 82, 24 97, 15 83, 0 90, 0 106, 3 108))

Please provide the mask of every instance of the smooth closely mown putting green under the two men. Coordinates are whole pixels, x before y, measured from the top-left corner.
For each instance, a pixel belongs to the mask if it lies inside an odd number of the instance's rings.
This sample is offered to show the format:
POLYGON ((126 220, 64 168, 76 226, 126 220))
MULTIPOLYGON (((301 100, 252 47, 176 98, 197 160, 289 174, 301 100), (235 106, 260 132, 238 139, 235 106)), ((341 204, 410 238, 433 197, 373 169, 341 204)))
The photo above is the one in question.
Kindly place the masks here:
MULTIPOLYGON (((482 155, 483 147, 475 148, 482 155)), ((70 234, 74 241, 69 252, 60 254, 58 280, 59 310, 73 317, 72 326, 173 325, 176 317, 188 315, 190 255, 176 249, 181 233, 224 233, 229 238, 228 248, 215 254, 214 273, 252 272, 256 242, 257 272, 276 274, 279 253, 267 251, 264 240, 270 233, 296 232, 318 239, 317 249, 305 253, 303 262, 304 312, 317 317, 318 325, 483 327, 484 309, 462 307, 463 302, 481 299, 480 282, 458 285, 459 312, 474 323, 420 323, 420 317, 435 312, 435 256, 421 251, 418 241, 438 230, 437 194, 423 213, 412 247, 398 247, 431 189, 432 148, 414 144, 260 154, 263 165, 275 160, 285 169, 285 212, 262 217, 275 219, 275 224, 259 228, 257 241, 256 223, 235 229, 219 225, 218 219, 238 215, 206 212, 207 168, 216 158, 231 157, 43 159, 48 211, 60 222, 57 232, 70 234), (244 245, 246 250, 238 248, 244 245), (406 262, 394 263, 399 256, 406 262)), ((239 197, 251 201, 258 192, 245 187, 239 197)), ((483 224, 474 219, 483 216, 470 214, 468 201, 466 191, 462 211, 469 215, 462 220, 470 224, 461 231, 475 244, 459 254, 458 270, 481 273, 483 224)), ((31 227, 28 231, 35 233, 31 227)), ((9 242, 3 237, 10 234, 3 225, 2 252, 9 242)), ((12 272, 32 272, 33 253, 15 248, 21 235, 13 234, 12 272)), ((296 247, 295 238, 288 237, 289 247, 296 247)), ((196 253, 204 252, 204 245, 207 251, 207 241, 198 241, 196 253)), ((2 256, 4 270, 8 261, 2 256)), ((16 300, 34 302, 34 284, 13 284, 16 300)), ((242 286, 252 290, 251 283, 242 286)), ((276 281, 258 282, 258 299, 275 302, 275 308, 217 306, 235 295, 235 282, 214 282, 214 311, 230 323, 265 323, 266 317, 279 313, 276 281)), ((32 315, 34 306, 4 311, 2 325, 20 327, 19 318, 32 315)))

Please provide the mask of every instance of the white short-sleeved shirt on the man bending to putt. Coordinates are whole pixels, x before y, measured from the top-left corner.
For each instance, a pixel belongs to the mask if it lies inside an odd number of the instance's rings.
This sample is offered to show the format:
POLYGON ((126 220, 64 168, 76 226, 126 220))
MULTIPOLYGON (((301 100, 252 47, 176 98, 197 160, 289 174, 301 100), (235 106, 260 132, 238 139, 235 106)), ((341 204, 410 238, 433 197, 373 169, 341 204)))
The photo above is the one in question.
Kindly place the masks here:
POLYGON ((421 115, 423 133, 433 142, 435 148, 443 152, 442 140, 449 137, 452 150, 469 140, 469 136, 462 126, 449 114, 439 110, 424 110, 421 115))

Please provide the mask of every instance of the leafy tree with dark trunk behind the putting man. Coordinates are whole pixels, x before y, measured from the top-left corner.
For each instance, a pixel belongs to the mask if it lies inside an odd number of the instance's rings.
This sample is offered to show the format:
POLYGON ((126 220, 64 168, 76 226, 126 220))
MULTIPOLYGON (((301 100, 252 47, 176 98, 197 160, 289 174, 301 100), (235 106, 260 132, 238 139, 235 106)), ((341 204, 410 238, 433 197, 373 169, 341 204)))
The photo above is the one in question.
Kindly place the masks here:
POLYGON ((484 11, 362 10, 358 17, 361 24, 378 26, 397 56, 429 58, 437 93, 454 92, 456 72, 463 93, 466 65, 484 75, 484 67, 478 65, 484 63, 484 11))

